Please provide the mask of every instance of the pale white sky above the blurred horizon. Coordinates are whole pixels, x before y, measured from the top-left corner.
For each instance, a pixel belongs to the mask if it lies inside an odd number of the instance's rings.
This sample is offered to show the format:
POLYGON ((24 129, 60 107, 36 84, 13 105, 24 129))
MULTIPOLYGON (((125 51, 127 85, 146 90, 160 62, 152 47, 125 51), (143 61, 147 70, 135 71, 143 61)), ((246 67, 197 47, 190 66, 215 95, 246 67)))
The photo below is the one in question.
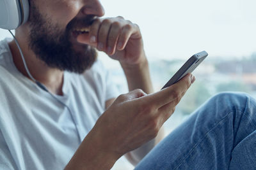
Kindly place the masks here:
MULTIPOLYGON (((205 50, 212 57, 256 52, 255 0, 101 0, 105 17, 138 24, 149 59, 186 59, 205 50)), ((0 29, 0 39, 10 34, 0 29)))

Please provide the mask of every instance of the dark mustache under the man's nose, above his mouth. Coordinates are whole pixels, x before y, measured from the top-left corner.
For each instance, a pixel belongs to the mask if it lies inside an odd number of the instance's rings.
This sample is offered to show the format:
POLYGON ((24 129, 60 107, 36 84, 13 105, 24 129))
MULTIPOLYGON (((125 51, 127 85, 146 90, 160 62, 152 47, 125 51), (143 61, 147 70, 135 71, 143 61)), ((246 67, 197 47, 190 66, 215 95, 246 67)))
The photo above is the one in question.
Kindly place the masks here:
POLYGON ((71 20, 66 28, 67 32, 72 31, 73 29, 76 28, 83 28, 83 27, 88 27, 90 25, 92 25, 93 21, 96 19, 97 17, 95 15, 87 15, 84 18, 74 18, 73 20, 71 20))

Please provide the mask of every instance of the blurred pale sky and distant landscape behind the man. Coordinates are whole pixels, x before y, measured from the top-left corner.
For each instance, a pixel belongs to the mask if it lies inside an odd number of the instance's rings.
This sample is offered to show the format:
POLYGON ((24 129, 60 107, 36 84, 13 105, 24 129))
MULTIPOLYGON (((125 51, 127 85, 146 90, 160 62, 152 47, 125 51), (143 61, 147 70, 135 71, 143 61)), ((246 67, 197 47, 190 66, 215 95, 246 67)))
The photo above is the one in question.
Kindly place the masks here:
MULTIPOLYGON (((154 89, 157 91, 194 53, 209 56, 196 68, 195 83, 164 124, 166 134, 209 97, 242 91, 256 97, 255 0, 102 0, 105 17, 123 16, 138 24, 144 39, 154 89)), ((10 34, 0 29, 0 40, 10 34)), ((100 53, 120 92, 127 92, 118 62, 100 53)), ((113 170, 133 169, 126 159, 113 170)))

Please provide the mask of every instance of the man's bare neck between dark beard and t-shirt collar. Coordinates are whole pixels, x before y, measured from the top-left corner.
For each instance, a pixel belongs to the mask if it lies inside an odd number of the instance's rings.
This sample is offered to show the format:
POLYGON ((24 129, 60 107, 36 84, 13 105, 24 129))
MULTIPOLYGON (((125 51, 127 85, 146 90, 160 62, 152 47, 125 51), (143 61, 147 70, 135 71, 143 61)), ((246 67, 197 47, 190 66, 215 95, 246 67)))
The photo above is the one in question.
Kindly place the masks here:
MULTIPOLYGON (((35 78, 35 80, 43 83, 47 89, 53 94, 63 95, 62 86, 63 86, 63 71, 59 69, 53 69, 48 67, 42 60, 38 59, 35 53, 29 48, 28 38, 20 36, 24 34, 19 34, 19 31, 16 31, 16 38, 19 42, 20 48, 26 60, 29 72, 35 78)), ((19 52, 19 48, 15 44, 15 41, 11 41, 9 44, 10 50, 13 56, 13 62, 20 73, 28 77, 28 73, 22 62, 22 57, 19 52)))

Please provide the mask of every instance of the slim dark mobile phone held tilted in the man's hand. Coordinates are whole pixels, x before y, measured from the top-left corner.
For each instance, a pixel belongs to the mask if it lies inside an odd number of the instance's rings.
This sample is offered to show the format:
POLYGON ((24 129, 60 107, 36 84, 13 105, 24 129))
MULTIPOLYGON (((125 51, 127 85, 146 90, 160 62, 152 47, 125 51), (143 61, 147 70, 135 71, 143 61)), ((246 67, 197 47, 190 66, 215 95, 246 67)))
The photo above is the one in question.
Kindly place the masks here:
MULTIPOLYGON (((172 76, 172 78, 164 85, 164 88, 169 87, 170 85, 173 85, 177 81, 179 81, 181 78, 186 76, 188 73, 192 73, 194 69, 207 57, 208 53, 203 51, 200 53, 196 53, 192 57, 190 57, 185 64, 180 67, 180 69, 177 71, 177 73, 172 76)), ((161 90, 162 90, 161 89, 161 90)))

